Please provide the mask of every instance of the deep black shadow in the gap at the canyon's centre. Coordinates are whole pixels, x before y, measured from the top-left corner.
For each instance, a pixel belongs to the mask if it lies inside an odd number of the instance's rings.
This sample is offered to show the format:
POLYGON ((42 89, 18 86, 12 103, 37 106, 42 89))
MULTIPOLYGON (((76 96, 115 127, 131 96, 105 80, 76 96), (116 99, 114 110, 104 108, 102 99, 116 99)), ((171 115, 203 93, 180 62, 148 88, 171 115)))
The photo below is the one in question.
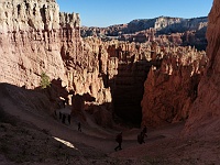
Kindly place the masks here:
POLYGON ((105 86, 111 88, 113 114, 119 117, 119 122, 140 127, 144 82, 152 66, 161 67, 161 61, 132 63, 132 59, 128 59, 119 63, 118 74, 113 78, 108 79, 108 75, 102 74, 105 86))

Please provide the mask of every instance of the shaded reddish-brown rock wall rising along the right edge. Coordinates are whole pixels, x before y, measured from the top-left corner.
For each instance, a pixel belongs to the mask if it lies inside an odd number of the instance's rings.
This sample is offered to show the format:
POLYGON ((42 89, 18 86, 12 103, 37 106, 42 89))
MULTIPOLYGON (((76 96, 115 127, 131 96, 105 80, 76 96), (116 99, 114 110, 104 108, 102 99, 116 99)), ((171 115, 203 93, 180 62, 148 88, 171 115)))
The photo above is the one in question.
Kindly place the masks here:
MULTIPOLYGON (((198 98, 190 109, 186 133, 219 134, 220 116, 220 1, 213 0, 207 29, 209 65, 198 88, 198 98), (202 125, 202 127, 201 127, 202 125)), ((209 134, 210 135, 210 134, 209 134)))

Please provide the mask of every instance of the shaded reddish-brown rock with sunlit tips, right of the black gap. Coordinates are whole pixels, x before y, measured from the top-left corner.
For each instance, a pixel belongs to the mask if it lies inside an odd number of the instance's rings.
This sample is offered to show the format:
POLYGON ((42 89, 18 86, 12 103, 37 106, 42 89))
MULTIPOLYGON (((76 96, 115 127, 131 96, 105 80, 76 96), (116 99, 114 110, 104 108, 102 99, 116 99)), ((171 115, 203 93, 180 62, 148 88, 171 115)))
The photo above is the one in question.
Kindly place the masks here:
POLYGON ((152 67, 144 84, 142 125, 157 128, 185 121, 207 62, 205 52, 169 47, 161 68, 152 67))

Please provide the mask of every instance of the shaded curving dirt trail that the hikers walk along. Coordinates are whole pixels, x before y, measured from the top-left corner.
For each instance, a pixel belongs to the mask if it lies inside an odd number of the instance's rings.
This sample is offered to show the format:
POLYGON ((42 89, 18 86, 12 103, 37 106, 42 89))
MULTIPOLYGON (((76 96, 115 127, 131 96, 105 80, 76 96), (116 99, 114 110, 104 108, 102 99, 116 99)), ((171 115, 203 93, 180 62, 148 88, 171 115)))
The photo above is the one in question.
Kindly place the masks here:
MULTIPOLYGON (((13 92, 13 95, 16 95, 16 91, 13 92)), ((52 136, 70 142, 76 148, 78 148, 79 153, 84 153, 84 151, 87 150, 87 146, 90 146, 112 157, 123 157, 129 155, 132 157, 141 154, 143 155, 145 153, 147 154, 147 146, 150 148, 153 146, 154 148, 156 146, 154 144, 161 143, 165 140, 176 139, 184 127, 184 123, 182 123, 162 128, 156 131, 148 130, 148 136, 145 140, 146 143, 142 145, 140 145, 136 141, 136 135, 141 131, 140 129, 123 130, 123 150, 114 152, 114 147, 118 145, 114 138, 119 131, 103 129, 97 125, 89 114, 86 114, 87 122, 81 122, 82 132, 79 132, 77 131, 78 119, 73 119, 70 125, 64 124, 59 120, 56 120, 52 116, 42 111, 38 112, 36 110, 29 109, 29 107, 28 109, 21 109, 18 103, 25 102, 18 102, 16 97, 15 99, 12 99, 10 96, 6 96, 6 94, 0 92, 0 106, 8 113, 12 116, 15 114, 21 119, 21 121, 25 121, 28 124, 34 124, 40 130, 48 130, 52 136), (80 144, 85 144, 87 146, 80 144)), ((59 111, 67 114, 70 112, 68 107, 61 109, 59 111)))

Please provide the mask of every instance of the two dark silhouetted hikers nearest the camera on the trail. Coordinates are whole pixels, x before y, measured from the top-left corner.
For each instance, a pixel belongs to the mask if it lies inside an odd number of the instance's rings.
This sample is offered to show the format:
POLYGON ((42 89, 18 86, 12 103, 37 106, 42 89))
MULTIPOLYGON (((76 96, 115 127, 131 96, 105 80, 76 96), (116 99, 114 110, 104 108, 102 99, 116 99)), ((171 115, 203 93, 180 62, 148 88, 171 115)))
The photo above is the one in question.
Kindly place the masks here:
MULTIPOLYGON (((145 143, 144 138, 147 138, 146 133, 147 133, 147 129, 144 125, 144 128, 141 131, 141 133, 138 134, 138 142, 140 144, 145 143)), ((117 141, 118 145, 114 147, 114 151, 122 150, 122 147, 121 147, 121 144, 122 144, 122 132, 120 132, 119 134, 117 134, 116 141, 117 141)))

